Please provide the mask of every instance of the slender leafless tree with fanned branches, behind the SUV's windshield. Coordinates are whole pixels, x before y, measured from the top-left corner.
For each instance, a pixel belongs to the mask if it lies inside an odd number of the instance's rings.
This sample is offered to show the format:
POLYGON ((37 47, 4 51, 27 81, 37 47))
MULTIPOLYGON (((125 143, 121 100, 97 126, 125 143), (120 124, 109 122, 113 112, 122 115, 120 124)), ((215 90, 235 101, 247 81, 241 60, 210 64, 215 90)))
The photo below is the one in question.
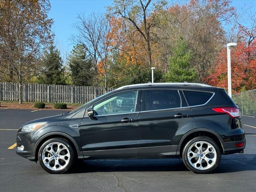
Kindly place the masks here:
POLYGON ((78 35, 73 36, 74 44, 80 44, 86 48, 91 57, 94 68, 98 73, 97 82, 108 91, 108 81, 110 68, 116 60, 117 46, 112 45, 110 38, 111 26, 109 18, 104 14, 91 14, 85 16, 78 15, 78 21, 74 27, 78 30, 78 35))

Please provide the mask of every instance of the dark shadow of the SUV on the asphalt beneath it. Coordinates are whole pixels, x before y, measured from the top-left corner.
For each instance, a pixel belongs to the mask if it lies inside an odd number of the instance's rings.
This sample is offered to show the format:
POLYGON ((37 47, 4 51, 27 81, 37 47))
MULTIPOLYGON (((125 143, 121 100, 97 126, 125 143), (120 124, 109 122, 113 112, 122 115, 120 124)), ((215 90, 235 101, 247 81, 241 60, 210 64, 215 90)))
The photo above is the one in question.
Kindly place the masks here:
MULTIPOLYGON (((212 173, 230 173, 256 170, 256 154, 222 156, 220 165, 212 173)), ((178 159, 84 160, 78 161, 69 173, 85 172, 144 172, 189 171, 178 159)))

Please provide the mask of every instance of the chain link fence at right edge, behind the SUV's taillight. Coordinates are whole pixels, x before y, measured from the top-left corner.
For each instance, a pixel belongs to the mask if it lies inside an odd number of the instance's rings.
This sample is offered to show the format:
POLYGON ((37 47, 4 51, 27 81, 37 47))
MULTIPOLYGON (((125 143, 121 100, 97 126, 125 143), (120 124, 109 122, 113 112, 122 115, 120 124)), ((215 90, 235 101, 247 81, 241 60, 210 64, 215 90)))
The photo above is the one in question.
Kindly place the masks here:
POLYGON ((242 114, 256 115, 256 89, 232 95, 242 114))

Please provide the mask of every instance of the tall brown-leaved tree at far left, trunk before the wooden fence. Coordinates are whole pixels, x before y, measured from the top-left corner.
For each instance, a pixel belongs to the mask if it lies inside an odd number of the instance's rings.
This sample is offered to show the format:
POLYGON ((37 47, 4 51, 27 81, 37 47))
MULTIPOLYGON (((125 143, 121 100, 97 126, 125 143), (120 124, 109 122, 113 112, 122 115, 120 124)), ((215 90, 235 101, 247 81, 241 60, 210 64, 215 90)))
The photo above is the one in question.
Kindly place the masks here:
POLYGON ((12 72, 19 83, 19 103, 22 86, 36 75, 42 48, 51 39, 52 19, 48 0, 0 1, 0 61, 2 77, 12 72))

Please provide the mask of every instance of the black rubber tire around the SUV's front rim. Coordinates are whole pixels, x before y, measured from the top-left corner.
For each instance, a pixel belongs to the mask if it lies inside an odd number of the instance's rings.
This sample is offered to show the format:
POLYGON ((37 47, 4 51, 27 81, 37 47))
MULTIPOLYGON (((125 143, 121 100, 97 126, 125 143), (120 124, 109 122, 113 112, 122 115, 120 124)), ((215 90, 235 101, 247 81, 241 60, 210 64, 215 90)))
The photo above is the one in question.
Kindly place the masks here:
MULTIPOLYGON (((44 142, 44 144, 42 144, 42 146, 40 147, 40 149, 38 151, 38 160, 39 160, 39 163, 42 166, 42 168, 45 171, 47 171, 48 173, 50 173, 50 174, 61 174, 61 173, 67 172, 72 167, 72 164, 74 162, 74 149, 72 148, 72 146, 70 145, 70 143, 67 140, 62 139, 62 138, 52 138, 52 139, 49 139, 46 142, 44 142), (68 161, 67 165, 65 165, 65 167, 61 170, 51 170, 50 168, 48 168, 44 164, 44 162, 42 160, 44 148, 48 144, 51 144, 51 143, 54 143, 54 142, 58 142, 58 143, 63 144, 66 148, 68 148, 68 151, 69 151, 69 154, 70 154, 70 157, 68 157, 69 161, 68 161)), ((54 160, 54 158, 53 158, 53 160, 54 160)), ((58 160, 58 162, 59 162, 59 160, 58 160)), ((50 162, 49 162, 49 164, 50 164, 50 162)))

